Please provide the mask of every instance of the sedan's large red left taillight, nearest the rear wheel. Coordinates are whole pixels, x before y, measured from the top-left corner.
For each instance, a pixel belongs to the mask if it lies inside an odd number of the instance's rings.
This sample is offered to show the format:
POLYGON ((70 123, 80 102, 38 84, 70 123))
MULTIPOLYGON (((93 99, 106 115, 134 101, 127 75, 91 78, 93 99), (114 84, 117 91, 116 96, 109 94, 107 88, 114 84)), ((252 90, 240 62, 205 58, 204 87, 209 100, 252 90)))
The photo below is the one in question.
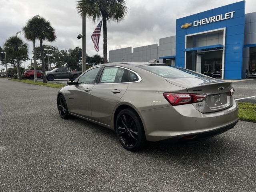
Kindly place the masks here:
POLYGON ((192 93, 164 93, 163 95, 172 106, 202 102, 206 97, 206 94, 192 93))

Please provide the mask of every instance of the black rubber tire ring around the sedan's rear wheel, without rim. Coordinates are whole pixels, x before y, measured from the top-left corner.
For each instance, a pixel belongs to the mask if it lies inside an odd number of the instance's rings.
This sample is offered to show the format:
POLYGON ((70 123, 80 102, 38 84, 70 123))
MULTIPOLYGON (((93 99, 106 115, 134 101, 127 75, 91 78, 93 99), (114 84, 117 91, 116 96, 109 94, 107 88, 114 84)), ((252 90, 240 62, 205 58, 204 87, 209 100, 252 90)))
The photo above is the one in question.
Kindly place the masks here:
POLYGON ((145 142, 146 142, 146 137, 145 137, 143 124, 140 120, 140 117, 138 116, 138 114, 136 112, 134 112, 134 110, 124 109, 124 110, 120 111, 119 114, 116 117, 115 128, 116 128, 115 131, 116 131, 116 135, 118 137, 118 140, 121 142, 122 146, 124 146, 124 148, 126 148, 127 150, 136 151, 136 150, 140 150, 144 147, 145 142), (138 140, 137 140, 136 144, 132 147, 126 146, 122 142, 122 140, 121 140, 121 138, 118 134, 117 122, 118 122, 118 119, 120 118, 120 116, 123 115, 123 114, 128 114, 129 116, 131 116, 134 119, 134 122, 137 126, 137 129, 138 129, 138 140))

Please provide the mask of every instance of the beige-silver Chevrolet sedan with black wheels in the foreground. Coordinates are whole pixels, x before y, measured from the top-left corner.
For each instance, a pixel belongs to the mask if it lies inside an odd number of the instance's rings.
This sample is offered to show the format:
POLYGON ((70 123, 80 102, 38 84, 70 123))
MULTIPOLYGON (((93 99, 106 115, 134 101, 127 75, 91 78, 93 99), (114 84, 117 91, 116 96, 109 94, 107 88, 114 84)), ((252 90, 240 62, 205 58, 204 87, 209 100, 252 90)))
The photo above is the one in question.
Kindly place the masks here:
POLYGON ((195 142, 238 122, 230 82, 167 64, 109 63, 68 81, 57 96, 60 117, 77 116, 116 132, 122 146, 146 140, 195 142))

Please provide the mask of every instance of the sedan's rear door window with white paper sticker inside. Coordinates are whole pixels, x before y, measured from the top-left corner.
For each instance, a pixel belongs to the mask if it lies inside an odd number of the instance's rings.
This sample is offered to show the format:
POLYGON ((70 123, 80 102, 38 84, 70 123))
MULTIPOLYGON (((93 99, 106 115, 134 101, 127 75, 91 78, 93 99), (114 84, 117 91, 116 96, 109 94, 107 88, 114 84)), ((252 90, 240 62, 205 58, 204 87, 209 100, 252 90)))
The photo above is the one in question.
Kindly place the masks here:
POLYGON ((100 77, 100 83, 128 82, 127 70, 120 67, 105 67, 100 77))

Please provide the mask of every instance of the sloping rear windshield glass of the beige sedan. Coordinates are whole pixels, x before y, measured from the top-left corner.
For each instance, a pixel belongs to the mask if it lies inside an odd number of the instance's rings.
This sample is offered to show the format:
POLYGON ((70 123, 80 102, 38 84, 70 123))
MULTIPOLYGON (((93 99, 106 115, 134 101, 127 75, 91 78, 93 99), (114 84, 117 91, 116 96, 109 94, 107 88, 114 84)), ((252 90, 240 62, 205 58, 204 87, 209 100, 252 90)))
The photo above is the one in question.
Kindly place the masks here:
POLYGON ((190 70, 170 65, 142 65, 139 67, 164 78, 204 77, 190 70))

